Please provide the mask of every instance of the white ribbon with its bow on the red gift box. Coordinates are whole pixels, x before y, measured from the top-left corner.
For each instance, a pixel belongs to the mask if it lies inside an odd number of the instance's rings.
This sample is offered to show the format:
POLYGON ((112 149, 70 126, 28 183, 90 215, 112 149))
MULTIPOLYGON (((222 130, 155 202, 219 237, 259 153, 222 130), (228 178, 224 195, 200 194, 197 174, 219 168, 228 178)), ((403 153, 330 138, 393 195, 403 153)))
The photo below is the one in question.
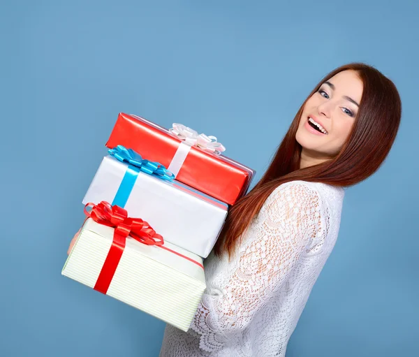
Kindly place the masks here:
POLYGON ((173 159, 168 166, 168 170, 173 173, 175 177, 179 173, 180 168, 182 168, 191 147, 200 147, 202 150, 216 155, 220 155, 221 152, 226 151, 226 148, 216 141, 215 136, 206 136, 205 134, 198 135, 197 131, 188 128, 183 124, 173 123, 173 127, 169 129, 169 132, 172 136, 182 140, 176 150, 175 156, 173 156, 173 159))

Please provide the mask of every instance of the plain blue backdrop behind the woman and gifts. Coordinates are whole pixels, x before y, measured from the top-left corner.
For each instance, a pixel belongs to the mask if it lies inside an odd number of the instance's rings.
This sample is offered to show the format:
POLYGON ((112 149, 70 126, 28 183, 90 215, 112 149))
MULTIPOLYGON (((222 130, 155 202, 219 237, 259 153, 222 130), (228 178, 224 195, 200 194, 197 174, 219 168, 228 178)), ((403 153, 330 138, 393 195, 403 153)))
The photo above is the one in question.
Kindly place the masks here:
MULTIPOLYGON (((1 1, 1 356, 157 356, 164 324, 61 277, 118 112, 181 122, 267 167, 318 80, 395 81, 388 160, 348 189, 292 356, 418 354, 417 1, 1 1)), ((254 183, 254 182, 253 182, 254 183)))

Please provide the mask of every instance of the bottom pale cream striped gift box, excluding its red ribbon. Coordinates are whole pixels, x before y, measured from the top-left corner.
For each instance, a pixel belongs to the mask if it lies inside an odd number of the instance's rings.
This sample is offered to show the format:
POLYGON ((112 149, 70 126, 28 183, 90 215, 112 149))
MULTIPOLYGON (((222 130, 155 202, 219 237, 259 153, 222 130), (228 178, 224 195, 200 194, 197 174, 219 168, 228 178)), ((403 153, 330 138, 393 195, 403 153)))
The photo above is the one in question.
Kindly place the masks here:
MULTIPOLYGON (((114 228, 87 219, 61 274, 94 288, 113 233, 114 228)), ((164 247, 183 256, 126 238, 106 295, 187 331, 206 287, 203 267, 198 265, 203 259, 168 242, 164 247)))

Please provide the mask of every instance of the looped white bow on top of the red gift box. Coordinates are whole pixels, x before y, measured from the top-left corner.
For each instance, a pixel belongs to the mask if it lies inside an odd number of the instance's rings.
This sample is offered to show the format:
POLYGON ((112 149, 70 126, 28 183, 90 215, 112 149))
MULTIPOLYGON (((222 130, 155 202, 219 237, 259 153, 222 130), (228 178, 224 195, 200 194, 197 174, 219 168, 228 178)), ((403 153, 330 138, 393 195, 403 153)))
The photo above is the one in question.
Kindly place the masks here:
POLYGON ((197 131, 188 126, 184 126, 183 124, 173 123, 173 127, 170 128, 169 131, 172 136, 184 141, 184 143, 200 147, 212 154, 219 155, 221 152, 226 151, 226 147, 223 147, 221 143, 218 143, 215 136, 206 136, 204 133, 198 135, 197 131))

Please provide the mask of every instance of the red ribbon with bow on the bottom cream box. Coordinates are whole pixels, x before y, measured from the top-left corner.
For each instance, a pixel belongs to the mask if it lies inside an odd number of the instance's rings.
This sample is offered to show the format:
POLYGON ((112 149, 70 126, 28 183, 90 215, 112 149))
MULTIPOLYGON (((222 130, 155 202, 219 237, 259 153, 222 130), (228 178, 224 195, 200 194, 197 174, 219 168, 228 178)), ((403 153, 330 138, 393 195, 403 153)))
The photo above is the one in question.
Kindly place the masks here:
POLYGON ((204 268, 202 264, 194 261, 188 256, 184 256, 172 249, 164 247, 164 241, 161 235, 157 234, 146 221, 143 221, 140 218, 128 217, 128 212, 122 207, 117 205, 112 206, 105 201, 102 201, 98 205, 87 203, 84 207, 84 213, 98 224, 115 228, 112 245, 94 286, 94 290, 96 291, 100 291, 104 294, 108 292, 110 282, 112 282, 112 278, 115 275, 122 253, 124 252, 128 235, 142 244, 156 245, 204 268), (89 212, 87 211, 88 207, 91 207, 91 211, 89 212))

